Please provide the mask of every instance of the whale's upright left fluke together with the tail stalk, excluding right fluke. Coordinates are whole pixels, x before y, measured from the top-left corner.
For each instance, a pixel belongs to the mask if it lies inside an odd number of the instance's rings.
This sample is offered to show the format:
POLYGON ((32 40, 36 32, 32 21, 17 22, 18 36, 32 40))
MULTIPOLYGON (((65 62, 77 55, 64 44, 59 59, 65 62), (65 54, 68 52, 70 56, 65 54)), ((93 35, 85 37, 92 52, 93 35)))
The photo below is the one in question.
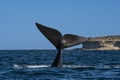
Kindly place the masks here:
POLYGON ((61 54, 62 34, 55 29, 46 27, 38 23, 36 23, 36 26, 57 49, 57 55, 51 67, 61 67, 62 65, 62 54, 61 54))

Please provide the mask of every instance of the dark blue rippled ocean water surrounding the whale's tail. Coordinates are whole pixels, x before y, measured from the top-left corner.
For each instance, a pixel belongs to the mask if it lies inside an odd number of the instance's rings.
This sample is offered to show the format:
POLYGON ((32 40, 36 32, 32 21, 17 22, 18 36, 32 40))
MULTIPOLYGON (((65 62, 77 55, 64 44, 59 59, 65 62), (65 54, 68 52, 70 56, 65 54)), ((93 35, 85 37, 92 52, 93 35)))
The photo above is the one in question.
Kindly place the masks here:
POLYGON ((120 80, 120 51, 0 50, 0 80, 120 80))

